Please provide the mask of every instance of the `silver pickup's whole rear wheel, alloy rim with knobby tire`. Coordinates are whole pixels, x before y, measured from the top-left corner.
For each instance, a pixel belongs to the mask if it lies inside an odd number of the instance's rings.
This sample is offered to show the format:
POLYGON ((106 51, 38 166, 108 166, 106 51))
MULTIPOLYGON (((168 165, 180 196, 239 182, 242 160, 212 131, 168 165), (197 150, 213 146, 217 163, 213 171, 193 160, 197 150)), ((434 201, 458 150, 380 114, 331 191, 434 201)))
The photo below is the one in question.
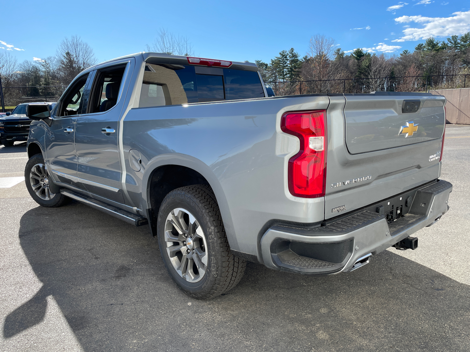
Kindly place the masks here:
POLYGON ((230 253, 209 186, 196 184, 168 193, 158 212, 157 229, 165 267, 191 297, 219 296, 242 279, 246 261, 230 253))

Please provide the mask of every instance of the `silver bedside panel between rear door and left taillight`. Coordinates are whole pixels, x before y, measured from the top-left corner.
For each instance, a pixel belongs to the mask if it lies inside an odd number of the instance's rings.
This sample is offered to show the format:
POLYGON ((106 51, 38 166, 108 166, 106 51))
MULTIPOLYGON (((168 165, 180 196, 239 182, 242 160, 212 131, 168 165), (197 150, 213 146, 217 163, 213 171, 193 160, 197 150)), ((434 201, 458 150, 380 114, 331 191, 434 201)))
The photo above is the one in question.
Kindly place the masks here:
POLYGON ((153 170, 166 164, 193 168, 214 190, 231 248, 261 260, 257 239, 266 222, 323 220, 323 198, 301 199, 288 191, 287 161, 298 152, 298 139, 284 134, 280 121, 285 111, 328 104, 321 96, 131 109, 123 124, 126 176, 135 184, 126 182, 129 196, 149 207, 145 190, 153 170), (139 172, 129 166, 130 149, 141 153, 139 172))

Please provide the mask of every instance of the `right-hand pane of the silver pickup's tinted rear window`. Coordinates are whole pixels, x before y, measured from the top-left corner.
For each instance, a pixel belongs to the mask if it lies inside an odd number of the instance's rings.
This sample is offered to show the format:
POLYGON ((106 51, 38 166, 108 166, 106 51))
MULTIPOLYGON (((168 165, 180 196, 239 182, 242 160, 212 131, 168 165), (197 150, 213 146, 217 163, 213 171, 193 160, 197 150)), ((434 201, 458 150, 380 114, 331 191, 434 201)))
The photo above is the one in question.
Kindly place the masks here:
POLYGON ((258 72, 224 69, 224 79, 227 100, 264 97, 258 72))

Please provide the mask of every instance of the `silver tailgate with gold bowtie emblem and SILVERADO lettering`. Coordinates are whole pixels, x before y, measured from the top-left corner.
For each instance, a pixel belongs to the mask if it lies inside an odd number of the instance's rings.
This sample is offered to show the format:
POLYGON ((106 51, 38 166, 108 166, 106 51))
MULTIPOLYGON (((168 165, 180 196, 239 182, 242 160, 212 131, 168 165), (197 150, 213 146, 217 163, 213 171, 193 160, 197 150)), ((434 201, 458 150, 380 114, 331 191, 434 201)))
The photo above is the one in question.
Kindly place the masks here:
POLYGON ((426 93, 330 97, 325 219, 437 179, 445 101, 426 93))

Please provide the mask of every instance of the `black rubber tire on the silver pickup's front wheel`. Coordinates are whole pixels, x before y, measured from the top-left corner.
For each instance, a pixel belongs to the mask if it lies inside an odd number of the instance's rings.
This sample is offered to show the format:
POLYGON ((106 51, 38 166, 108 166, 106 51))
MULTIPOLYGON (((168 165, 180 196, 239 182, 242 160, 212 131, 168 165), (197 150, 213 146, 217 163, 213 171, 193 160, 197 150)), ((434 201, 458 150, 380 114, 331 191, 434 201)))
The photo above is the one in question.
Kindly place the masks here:
POLYGON ((38 165, 41 165, 44 175, 47 178, 50 177, 42 154, 39 153, 31 156, 26 163, 26 168, 24 168, 24 182, 26 183, 26 188, 32 199, 43 207, 62 207, 64 204, 68 203, 70 198, 65 197, 62 193, 50 192, 48 184, 41 183, 40 180, 31 178, 31 169, 33 167, 40 168, 38 165), (42 184, 41 191, 38 191, 39 184, 42 184), (42 193, 44 198, 41 198, 37 192, 34 191, 33 187, 36 188, 39 193, 42 193), (47 197, 47 194, 49 194, 49 197, 47 197))

